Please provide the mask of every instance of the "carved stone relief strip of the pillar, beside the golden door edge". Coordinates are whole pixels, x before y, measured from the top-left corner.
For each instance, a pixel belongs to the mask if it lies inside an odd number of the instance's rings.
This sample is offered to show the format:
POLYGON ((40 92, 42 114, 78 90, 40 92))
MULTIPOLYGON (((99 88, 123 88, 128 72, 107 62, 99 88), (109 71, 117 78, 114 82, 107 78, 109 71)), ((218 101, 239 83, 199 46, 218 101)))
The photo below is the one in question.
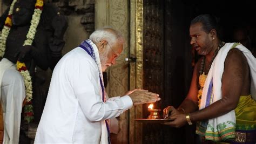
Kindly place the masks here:
MULTIPOLYGON (((117 64, 110 67, 109 70, 109 92, 111 95, 120 95, 128 91, 128 71, 129 64, 124 61, 128 56, 129 46, 129 26, 128 26, 128 6, 127 1, 113 0, 110 1, 110 25, 120 31, 124 36, 126 43, 124 50, 117 59, 117 64)), ((119 132, 117 134, 117 143, 127 143, 128 141, 128 116, 127 112, 119 116, 118 126, 119 132), (123 139, 126 138, 126 139, 123 139)))

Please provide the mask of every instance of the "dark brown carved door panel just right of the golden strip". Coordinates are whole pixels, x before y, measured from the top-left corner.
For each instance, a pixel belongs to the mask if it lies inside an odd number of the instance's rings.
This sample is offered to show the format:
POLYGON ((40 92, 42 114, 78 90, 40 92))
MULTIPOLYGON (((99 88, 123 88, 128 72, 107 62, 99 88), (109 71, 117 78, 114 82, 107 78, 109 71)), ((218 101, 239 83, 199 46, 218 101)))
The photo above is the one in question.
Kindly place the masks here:
MULTIPOLYGON (((143 88, 164 94, 164 1, 143 1, 143 88)), ((154 108, 161 108, 156 102, 154 108)), ((143 106, 143 118, 147 118, 147 104, 143 106)), ((169 143, 159 124, 143 124, 143 143, 169 143)))

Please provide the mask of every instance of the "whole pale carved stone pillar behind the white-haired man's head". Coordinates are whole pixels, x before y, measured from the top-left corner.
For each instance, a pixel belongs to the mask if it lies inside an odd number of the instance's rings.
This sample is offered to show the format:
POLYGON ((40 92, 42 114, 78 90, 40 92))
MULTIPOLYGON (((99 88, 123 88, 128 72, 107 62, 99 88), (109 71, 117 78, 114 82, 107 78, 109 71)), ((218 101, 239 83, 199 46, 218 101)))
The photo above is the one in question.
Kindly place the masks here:
MULTIPOLYGON (((129 89, 129 64, 124 58, 129 56, 130 48, 130 16, 129 1, 127 0, 96 0, 95 1, 95 28, 111 26, 120 31, 126 42, 124 50, 117 59, 117 64, 107 69, 106 92, 109 97, 123 95, 129 89)), ((123 113, 118 118, 117 138, 112 143, 128 143, 128 112, 123 113)))

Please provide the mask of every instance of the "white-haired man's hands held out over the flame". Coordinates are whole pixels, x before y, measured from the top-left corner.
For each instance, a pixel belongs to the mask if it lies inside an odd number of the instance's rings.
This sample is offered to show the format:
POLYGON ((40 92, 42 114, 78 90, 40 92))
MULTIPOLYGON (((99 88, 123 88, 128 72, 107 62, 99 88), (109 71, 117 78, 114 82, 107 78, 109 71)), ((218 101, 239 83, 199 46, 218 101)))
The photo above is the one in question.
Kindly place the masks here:
POLYGON ((156 101, 159 101, 159 94, 149 92, 147 90, 133 90, 129 91, 131 92, 128 95, 132 99, 133 105, 140 105, 140 104, 146 104, 146 103, 153 103, 156 101))

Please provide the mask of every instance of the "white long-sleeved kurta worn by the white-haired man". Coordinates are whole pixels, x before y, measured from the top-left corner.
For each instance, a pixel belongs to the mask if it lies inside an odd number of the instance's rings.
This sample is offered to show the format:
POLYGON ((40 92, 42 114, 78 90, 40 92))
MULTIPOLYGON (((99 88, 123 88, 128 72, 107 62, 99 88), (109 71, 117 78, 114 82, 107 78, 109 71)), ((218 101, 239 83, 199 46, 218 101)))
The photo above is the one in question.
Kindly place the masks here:
POLYGON ((35 143, 100 143, 101 121, 131 107, 127 95, 103 102, 97 64, 77 47, 53 71, 35 143))

